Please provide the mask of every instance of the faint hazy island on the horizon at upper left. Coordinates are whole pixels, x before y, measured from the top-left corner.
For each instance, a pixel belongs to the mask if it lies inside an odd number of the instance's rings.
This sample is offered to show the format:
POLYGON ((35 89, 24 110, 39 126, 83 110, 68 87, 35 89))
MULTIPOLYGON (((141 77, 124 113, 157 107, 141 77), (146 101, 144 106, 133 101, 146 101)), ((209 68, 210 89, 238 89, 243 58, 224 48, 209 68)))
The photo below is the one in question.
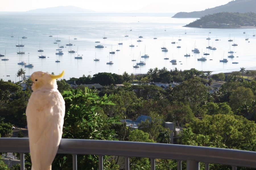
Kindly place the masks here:
POLYGON ((27 12, 33 13, 87 13, 87 12, 95 12, 93 10, 79 8, 75 6, 58 6, 58 7, 50 7, 50 8, 41 8, 41 9, 33 9, 27 12))

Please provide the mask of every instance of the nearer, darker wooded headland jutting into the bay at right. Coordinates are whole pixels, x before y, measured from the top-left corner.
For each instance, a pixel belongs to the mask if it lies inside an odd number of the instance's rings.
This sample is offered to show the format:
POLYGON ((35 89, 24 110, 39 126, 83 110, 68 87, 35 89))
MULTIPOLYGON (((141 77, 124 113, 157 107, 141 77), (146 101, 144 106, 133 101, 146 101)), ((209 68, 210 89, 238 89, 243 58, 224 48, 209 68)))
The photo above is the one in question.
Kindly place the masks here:
POLYGON ((243 26, 255 26, 256 13, 247 12, 232 13, 232 12, 219 12, 201 17, 200 19, 191 22, 184 27, 197 27, 197 28, 238 28, 243 26))

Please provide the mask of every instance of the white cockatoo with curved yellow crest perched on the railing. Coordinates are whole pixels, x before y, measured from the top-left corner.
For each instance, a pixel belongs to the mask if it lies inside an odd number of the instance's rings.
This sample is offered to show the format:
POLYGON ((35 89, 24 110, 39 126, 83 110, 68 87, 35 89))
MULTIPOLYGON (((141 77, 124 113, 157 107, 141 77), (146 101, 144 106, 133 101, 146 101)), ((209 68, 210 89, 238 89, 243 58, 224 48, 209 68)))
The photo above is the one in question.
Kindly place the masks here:
POLYGON ((26 109, 32 170, 51 170, 62 136, 65 101, 57 90, 56 79, 36 71, 31 75, 32 94, 26 109))

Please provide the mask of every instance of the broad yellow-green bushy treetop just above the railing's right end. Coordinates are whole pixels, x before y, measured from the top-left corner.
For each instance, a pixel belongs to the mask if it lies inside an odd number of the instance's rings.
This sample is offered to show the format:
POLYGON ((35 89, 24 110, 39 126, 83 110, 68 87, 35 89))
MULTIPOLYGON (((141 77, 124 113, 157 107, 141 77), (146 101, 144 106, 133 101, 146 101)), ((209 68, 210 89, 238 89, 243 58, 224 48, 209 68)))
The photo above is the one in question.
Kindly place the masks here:
POLYGON ((256 150, 253 145, 256 142, 256 125, 242 116, 205 115, 202 120, 195 119, 187 126, 191 129, 183 130, 182 143, 185 145, 256 150))

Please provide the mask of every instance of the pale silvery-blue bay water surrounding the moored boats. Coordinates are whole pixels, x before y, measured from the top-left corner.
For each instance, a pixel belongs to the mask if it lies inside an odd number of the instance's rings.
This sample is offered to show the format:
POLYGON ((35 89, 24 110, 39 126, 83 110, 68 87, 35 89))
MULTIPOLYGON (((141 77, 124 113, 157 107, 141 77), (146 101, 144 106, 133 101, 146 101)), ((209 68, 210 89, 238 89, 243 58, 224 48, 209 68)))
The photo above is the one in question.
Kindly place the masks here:
POLYGON ((0 60, 0 78, 5 81, 9 79, 18 81, 16 73, 20 68, 26 70, 26 75, 31 75, 34 71, 59 74, 65 70, 65 79, 99 72, 146 73, 148 69, 155 67, 158 69, 166 67, 168 70, 175 67, 179 70, 196 68, 213 73, 239 71, 241 67, 256 69, 256 37, 253 37, 253 28, 188 28, 182 26, 197 18, 171 18, 173 15, 172 13, 0 13, 0 54, 5 54, 6 50, 6 58, 9 59, 0 60), (11 37, 12 33, 15 37, 11 37), (53 37, 49 37, 50 34, 53 37), (104 34, 107 39, 103 39, 104 34), (28 38, 21 39, 23 36, 28 38), (143 38, 138 38, 139 36, 143 38), (233 42, 228 42, 229 36, 234 40, 233 42), (250 42, 245 41, 246 36, 249 37, 250 42), (53 44, 57 37, 61 40, 60 44, 53 44), (77 40, 74 40, 74 37, 77 40), (157 39, 153 39, 154 37, 157 39), (211 39, 207 40, 207 37, 211 39), (220 41, 215 41, 216 37, 220 41), (181 41, 178 41, 179 38, 181 41), (141 42, 137 42, 138 39, 141 42), (19 49, 15 44, 21 41, 25 46, 20 47, 20 51, 24 51, 25 54, 16 54, 19 49), (171 44, 172 41, 176 44, 171 44), (73 46, 65 45, 69 42, 73 46), (118 42, 123 42, 123 45, 118 45, 118 42), (238 46, 232 46, 233 43, 238 46), (105 48, 94 47, 99 44, 104 45, 105 48), (129 47, 131 44, 135 46, 129 47), (58 45, 65 47, 62 48, 63 55, 55 55, 58 45), (177 48, 178 45, 181 48, 177 48), (208 45, 216 47, 217 50, 207 49, 208 45), (168 52, 162 52, 163 46, 168 52), (195 47, 201 53, 191 52, 195 47), (38 52, 39 48, 44 52, 38 52), (68 53, 70 48, 76 53, 68 53), (115 51, 116 49, 120 51, 115 51), (115 54, 109 54, 111 50, 115 51, 115 54), (228 58, 227 63, 220 62, 220 59, 230 55, 229 50, 235 52, 235 57, 228 58), (207 61, 197 61, 197 58, 204 56, 203 52, 210 54, 207 56, 207 61), (149 58, 140 58, 145 53, 149 58), (186 53, 190 53, 191 56, 184 57, 186 53), (46 58, 39 58, 41 54, 46 55, 46 58), (83 56, 83 59, 75 59, 77 54, 83 56), (29 63, 34 64, 33 68, 25 68, 17 64, 21 58, 28 63, 28 56, 29 63), (94 61, 95 56, 100 61, 94 61), (56 63, 56 59, 60 62, 56 63), (131 61, 132 59, 145 61, 146 65, 135 69, 133 65, 136 62, 131 61), (172 59, 177 60, 177 65, 170 63, 172 59), (113 61, 114 64, 107 65, 109 61, 113 61), (234 61, 239 63, 232 64, 234 61))

